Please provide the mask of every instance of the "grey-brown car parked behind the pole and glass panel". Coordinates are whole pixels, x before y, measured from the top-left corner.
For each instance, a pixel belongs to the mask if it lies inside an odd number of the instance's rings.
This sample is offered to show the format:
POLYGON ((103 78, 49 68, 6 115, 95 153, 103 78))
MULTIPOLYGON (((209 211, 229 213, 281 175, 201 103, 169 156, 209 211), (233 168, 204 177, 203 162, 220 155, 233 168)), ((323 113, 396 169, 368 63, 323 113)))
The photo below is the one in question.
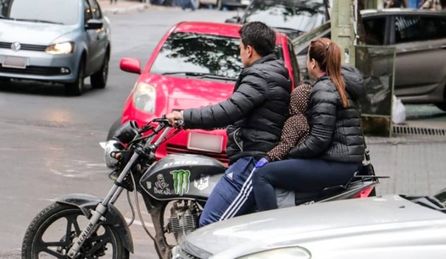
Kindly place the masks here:
MULTIPOLYGON (((395 95, 404 103, 433 103, 446 110, 446 13, 390 8, 362 10, 361 16, 367 45, 396 50, 395 95)), ((330 22, 326 22, 293 39, 304 80, 308 79, 309 44, 318 38, 330 38, 330 26, 330 22)), ((377 55, 383 52, 371 51, 377 55)), ((388 69, 388 59, 374 59, 376 75, 388 69)))

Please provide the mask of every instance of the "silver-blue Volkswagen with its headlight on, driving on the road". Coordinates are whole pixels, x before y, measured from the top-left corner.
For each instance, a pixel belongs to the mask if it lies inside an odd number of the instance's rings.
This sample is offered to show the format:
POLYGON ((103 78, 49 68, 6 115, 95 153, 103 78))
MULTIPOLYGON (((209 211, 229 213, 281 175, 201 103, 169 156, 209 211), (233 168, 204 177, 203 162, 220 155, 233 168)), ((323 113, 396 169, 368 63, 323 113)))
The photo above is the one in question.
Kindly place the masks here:
POLYGON ((0 80, 63 83, 69 95, 107 84, 110 22, 97 0, 0 1, 0 80))

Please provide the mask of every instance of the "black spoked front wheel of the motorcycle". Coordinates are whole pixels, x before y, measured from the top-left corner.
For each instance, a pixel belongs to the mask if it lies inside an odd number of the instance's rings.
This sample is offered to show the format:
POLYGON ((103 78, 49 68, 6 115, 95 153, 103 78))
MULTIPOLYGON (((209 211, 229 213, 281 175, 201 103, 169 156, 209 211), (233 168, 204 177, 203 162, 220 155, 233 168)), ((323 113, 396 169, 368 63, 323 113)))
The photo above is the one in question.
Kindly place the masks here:
MULTIPOLYGON (((33 219, 26 230, 22 259, 68 258, 67 253, 73 240, 80 235, 87 222, 88 219, 77 207, 58 202, 49 205, 33 219)), ((116 230, 109 225, 100 225, 86 239, 77 258, 128 259, 130 255, 116 230)))

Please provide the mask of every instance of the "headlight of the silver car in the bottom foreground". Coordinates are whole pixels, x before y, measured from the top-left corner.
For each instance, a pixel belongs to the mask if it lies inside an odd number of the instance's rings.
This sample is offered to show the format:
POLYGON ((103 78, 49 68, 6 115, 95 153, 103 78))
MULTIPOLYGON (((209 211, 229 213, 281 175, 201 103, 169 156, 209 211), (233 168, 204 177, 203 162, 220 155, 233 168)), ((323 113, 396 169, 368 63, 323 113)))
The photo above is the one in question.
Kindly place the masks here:
POLYGON ((259 253, 252 253, 247 256, 239 257, 238 259, 310 259, 312 258, 312 254, 309 253, 307 249, 303 249, 302 247, 294 246, 294 247, 286 247, 282 249, 272 249, 268 251, 262 251, 259 253))

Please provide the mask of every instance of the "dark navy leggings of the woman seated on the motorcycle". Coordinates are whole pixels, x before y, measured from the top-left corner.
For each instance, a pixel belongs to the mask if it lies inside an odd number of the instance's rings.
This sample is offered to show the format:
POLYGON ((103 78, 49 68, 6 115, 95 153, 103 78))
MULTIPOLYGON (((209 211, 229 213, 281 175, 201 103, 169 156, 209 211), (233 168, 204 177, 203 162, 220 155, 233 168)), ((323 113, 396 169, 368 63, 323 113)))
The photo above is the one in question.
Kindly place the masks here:
POLYGON ((346 184, 361 165, 321 159, 289 159, 263 165, 252 176, 257 207, 259 211, 277 209, 275 188, 298 193, 346 184))

